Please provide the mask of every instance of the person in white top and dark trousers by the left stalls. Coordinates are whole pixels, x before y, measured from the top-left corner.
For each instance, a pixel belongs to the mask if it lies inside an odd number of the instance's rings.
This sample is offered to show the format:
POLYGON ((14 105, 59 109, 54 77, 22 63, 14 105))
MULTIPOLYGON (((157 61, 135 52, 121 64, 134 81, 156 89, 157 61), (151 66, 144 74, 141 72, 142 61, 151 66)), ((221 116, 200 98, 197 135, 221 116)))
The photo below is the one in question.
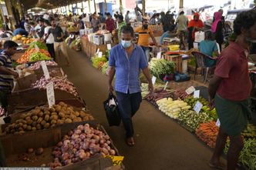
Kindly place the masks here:
POLYGON ((44 34, 44 41, 46 42, 46 46, 48 48, 48 52, 56 60, 55 51, 54 51, 54 37, 52 33, 49 33, 49 30, 52 28, 52 25, 48 20, 45 20, 45 34, 44 34), (48 35, 49 33, 49 35, 48 35))

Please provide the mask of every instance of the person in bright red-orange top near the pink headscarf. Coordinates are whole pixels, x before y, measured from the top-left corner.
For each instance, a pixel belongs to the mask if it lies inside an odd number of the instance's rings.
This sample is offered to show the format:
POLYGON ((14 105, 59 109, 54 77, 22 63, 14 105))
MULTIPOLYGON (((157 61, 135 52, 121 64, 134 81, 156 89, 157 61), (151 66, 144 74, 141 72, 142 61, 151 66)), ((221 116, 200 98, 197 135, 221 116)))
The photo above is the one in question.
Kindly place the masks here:
POLYGON ((194 19, 188 23, 188 49, 194 48, 195 32, 202 30, 204 23, 200 20, 200 15, 194 13, 194 19))

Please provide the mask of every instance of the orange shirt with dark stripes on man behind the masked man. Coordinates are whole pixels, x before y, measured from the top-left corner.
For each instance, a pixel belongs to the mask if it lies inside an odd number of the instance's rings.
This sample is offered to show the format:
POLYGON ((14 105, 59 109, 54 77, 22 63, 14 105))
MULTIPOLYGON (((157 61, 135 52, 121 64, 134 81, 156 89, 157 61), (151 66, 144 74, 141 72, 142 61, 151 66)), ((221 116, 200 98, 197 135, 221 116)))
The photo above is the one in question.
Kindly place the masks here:
POLYGON ((138 45, 148 47, 150 45, 150 34, 153 35, 151 28, 143 29, 142 27, 136 28, 135 32, 139 33, 138 45))

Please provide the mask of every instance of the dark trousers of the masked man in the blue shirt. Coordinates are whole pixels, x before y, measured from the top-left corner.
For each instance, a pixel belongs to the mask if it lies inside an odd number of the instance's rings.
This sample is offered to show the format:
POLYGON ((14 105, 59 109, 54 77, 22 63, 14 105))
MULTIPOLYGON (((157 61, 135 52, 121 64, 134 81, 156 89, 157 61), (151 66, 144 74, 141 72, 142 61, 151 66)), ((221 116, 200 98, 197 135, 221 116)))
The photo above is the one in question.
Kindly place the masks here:
POLYGON ((116 92, 116 98, 123 126, 126 129, 126 137, 133 137, 134 131, 132 117, 140 108, 140 103, 142 101, 141 93, 136 92, 133 94, 125 94, 122 92, 116 92))

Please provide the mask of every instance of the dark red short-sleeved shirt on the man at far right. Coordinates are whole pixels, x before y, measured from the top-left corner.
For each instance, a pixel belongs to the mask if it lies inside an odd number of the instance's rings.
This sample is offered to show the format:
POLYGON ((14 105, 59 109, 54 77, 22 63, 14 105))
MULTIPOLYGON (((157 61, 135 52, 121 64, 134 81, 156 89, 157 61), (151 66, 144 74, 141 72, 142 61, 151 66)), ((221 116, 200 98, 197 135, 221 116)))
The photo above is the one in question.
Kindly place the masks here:
POLYGON ((250 96, 251 79, 248 72, 246 50, 231 42, 218 58, 214 74, 222 78, 217 94, 232 101, 242 101, 250 96))

